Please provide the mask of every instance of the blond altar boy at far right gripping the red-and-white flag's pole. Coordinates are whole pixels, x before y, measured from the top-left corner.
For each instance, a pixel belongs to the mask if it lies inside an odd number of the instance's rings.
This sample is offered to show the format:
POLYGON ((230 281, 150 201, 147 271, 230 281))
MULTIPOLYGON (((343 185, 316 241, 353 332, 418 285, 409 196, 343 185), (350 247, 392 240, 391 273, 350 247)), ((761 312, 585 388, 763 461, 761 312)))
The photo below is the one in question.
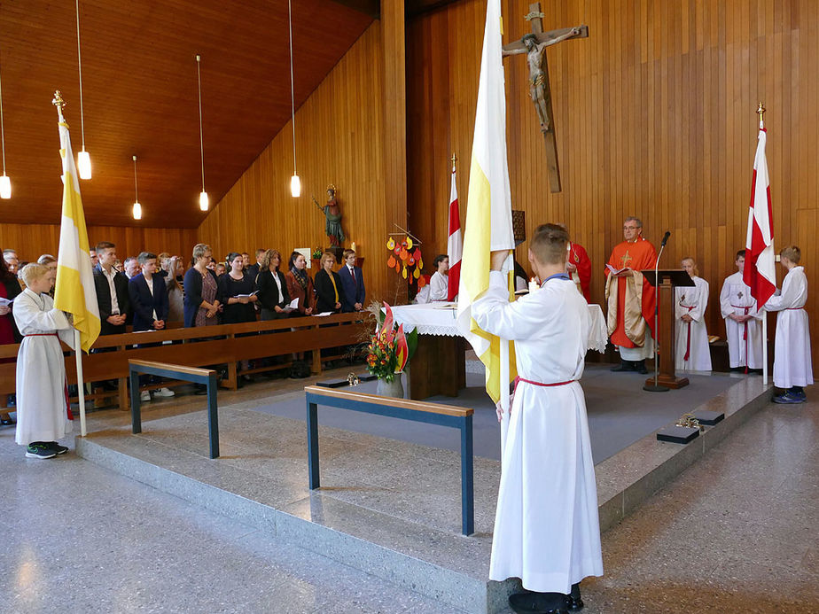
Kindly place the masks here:
POLYGON ((766 311, 776 315, 774 342, 774 385, 783 392, 774 397, 775 403, 804 403, 804 387, 814 383, 810 359, 810 330, 807 328, 807 276, 800 267, 802 258, 796 245, 779 253, 779 262, 788 270, 782 280, 782 291, 765 303, 766 311))

